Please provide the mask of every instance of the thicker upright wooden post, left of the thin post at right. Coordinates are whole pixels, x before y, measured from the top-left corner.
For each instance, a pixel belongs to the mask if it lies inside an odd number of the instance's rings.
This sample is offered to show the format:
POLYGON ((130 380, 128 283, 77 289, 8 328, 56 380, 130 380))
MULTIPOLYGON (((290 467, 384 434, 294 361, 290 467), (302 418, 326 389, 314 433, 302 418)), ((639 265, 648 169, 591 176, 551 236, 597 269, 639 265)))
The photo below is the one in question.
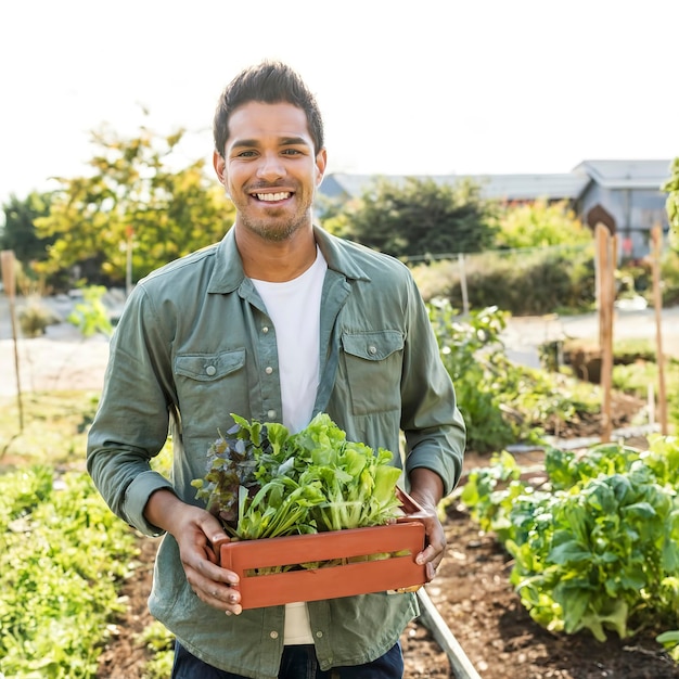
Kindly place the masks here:
POLYGON ((601 440, 611 440, 613 432, 613 310, 615 304, 615 268, 617 239, 603 223, 598 223, 597 256, 599 271, 599 348, 601 350, 601 440))

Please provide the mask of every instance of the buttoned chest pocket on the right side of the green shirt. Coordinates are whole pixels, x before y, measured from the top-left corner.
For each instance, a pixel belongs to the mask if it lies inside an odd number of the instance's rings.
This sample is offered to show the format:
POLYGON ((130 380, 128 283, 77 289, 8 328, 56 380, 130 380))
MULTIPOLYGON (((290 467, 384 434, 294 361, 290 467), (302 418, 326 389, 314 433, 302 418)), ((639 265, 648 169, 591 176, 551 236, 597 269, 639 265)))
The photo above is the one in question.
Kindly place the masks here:
POLYGON ((397 330, 343 333, 342 349, 354 414, 400 408, 403 335, 397 330))

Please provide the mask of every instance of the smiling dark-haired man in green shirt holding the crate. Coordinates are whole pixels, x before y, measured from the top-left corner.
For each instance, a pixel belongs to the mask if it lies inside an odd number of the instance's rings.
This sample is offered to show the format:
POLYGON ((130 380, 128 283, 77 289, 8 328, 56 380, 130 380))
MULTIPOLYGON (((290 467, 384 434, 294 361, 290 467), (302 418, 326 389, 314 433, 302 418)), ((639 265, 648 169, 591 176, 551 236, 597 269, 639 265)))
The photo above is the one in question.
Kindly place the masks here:
POLYGON ((235 223, 130 296, 88 470, 116 514, 166 534, 149 605, 177 637, 176 679, 401 677, 412 593, 242 611, 238 576, 212 547, 222 528, 191 481, 205 475, 229 413, 295 432, 323 411, 349 440, 393 451, 402 431, 409 490, 424 508, 417 559, 434 577, 446 543, 436 505, 459 479, 464 448, 450 377, 408 269, 315 227, 326 152, 299 76, 278 62, 244 71, 221 95, 214 132, 235 223), (168 425, 171 482, 149 465, 168 425))

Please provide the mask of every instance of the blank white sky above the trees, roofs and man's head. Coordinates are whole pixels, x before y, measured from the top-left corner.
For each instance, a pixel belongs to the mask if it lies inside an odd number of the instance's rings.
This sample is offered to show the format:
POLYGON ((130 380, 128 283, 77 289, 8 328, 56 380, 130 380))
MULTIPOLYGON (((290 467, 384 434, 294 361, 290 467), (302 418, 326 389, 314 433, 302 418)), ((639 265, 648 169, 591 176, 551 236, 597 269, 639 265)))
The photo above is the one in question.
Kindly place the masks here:
POLYGON ((0 202, 87 174, 104 121, 212 157, 221 88, 264 57, 317 94, 331 172, 679 156, 677 0, 2 0, 0 27, 0 202))

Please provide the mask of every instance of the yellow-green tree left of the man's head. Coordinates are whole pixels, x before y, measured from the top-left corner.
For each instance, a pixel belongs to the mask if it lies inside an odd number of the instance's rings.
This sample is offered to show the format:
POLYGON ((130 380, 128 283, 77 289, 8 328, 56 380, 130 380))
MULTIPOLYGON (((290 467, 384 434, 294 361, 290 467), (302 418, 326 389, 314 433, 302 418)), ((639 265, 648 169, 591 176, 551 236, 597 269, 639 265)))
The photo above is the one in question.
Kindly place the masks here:
POLYGON ((203 161, 174 169, 183 130, 154 134, 145 127, 120 138, 108 128, 92 133, 99 153, 91 176, 61 178, 39 233, 53 236, 46 271, 77 268, 89 283, 125 279, 132 242, 136 279, 219 240, 234 218, 232 203, 208 180, 203 161))

